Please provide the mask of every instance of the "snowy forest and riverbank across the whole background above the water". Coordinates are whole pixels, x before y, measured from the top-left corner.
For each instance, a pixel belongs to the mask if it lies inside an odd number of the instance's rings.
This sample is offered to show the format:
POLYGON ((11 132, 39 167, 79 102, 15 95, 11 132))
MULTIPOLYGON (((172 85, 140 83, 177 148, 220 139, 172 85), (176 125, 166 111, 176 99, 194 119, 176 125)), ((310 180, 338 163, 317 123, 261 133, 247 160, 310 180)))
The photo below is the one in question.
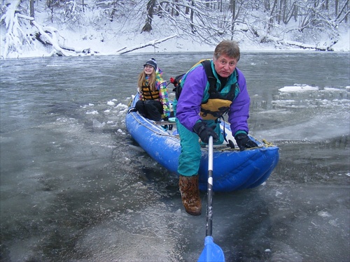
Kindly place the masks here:
POLYGON ((1 58, 244 50, 349 51, 349 0, 1 0, 1 58), (340 44, 341 42, 344 44, 340 44))

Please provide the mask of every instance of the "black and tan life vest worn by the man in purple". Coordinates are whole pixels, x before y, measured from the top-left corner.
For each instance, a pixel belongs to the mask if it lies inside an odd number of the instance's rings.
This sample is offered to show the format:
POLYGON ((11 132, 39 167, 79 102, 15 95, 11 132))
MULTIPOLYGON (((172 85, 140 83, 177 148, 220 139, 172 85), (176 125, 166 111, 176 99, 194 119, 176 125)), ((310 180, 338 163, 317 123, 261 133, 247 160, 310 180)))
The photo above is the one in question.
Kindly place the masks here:
MULTIPOLYGON (((209 82, 209 99, 207 99, 207 101, 202 101, 200 116, 205 120, 215 120, 222 117, 225 112, 228 112, 233 99, 235 99, 236 92, 239 92, 239 88, 237 82, 235 82, 235 84, 231 85, 228 93, 221 94, 221 92, 216 89, 217 80, 211 70, 211 61, 204 60, 201 61, 201 64, 204 67, 209 82)), ((222 89, 223 87, 221 87, 221 90, 222 89)))

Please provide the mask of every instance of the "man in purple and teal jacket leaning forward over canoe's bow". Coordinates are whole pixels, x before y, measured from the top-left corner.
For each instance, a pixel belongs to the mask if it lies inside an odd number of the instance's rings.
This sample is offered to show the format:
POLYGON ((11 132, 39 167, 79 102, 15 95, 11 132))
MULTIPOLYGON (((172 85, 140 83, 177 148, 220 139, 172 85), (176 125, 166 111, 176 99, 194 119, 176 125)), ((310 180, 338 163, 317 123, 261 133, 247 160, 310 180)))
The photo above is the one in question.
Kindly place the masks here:
POLYGON ((181 138, 179 187, 188 214, 202 213, 198 186, 199 138, 202 143, 208 143, 209 136, 213 136, 214 143, 223 143, 218 120, 225 112, 228 112, 228 122, 239 149, 258 146, 247 136, 250 98, 246 79, 236 68, 239 57, 235 41, 219 43, 212 60, 197 63, 183 76, 181 95, 174 101, 181 138))

